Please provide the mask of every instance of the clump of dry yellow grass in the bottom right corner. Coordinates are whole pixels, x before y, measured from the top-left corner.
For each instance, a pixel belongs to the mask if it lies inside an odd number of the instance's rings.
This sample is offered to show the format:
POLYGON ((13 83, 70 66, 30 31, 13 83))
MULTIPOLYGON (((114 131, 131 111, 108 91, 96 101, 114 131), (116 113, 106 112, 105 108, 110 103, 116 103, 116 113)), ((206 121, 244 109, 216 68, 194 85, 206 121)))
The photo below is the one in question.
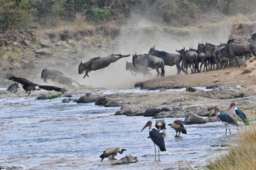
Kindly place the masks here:
POLYGON ((238 135, 237 145, 228 149, 228 154, 210 162, 206 169, 256 169, 256 125, 250 125, 238 135))

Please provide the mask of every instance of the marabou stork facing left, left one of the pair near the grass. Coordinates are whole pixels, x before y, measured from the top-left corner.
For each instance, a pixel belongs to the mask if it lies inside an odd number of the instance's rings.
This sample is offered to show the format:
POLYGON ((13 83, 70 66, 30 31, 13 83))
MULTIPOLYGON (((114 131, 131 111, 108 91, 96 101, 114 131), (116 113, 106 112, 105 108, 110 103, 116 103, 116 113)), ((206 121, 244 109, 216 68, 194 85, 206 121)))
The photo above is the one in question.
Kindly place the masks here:
MULTIPOLYGON (((220 111, 218 108, 215 108, 215 110, 212 113, 210 113, 210 115, 213 115, 213 113, 215 113, 216 118, 219 122, 222 122, 222 123, 225 124, 225 135, 227 135, 228 124, 238 126, 238 121, 237 120, 233 119, 227 113, 224 113, 224 112, 220 111)), ((209 115, 209 117, 210 117, 210 115, 209 115)), ((228 130, 230 131, 230 128, 228 128, 228 130)), ((230 132, 230 135, 231 135, 231 132, 230 132)))

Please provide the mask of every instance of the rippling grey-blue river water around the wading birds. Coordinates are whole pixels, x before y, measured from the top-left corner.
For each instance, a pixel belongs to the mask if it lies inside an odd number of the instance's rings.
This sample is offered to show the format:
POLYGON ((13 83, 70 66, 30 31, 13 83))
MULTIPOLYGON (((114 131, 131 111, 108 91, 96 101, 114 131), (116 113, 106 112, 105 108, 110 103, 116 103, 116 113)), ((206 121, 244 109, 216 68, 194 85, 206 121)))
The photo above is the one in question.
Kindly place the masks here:
MULTIPOLYGON (((31 77, 36 81, 38 74, 31 77)), ((11 82, 12 83, 12 82, 11 82)), ((11 84, 0 79, 0 89, 11 84)), ((132 90, 115 90, 126 93, 132 90)), ((104 91, 112 93, 112 91, 104 91)), ((136 91, 138 92, 138 91, 136 91)), ((144 91, 142 91, 144 93, 144 91)), ((157 91, 156 91, 157 93, 157 91)), ((81 94, 75 94, 79 97, 81 94)), ((0 96, 0 166, 18 169, 201 169, 216 155, 225 152, 235 135, 225 136, 222 123, 185 125, 188 135, 174 137, 166 130, 166 152, 154 162, 154 144, 148 129, 151 118, 114 115, 119 107, 105 108, 94 103, 61 103, 63 98, 38 101, 35 96, 0 96), (100 154, 108 147, 125 148, 117 159, 132 154, 139 162, 112 165, 100 154)), ((165 118, 171 123, 175 118, 165 118)), ((155 120, 152 120, 153 123, 155 120)), ((233 134, 237 129, 230 127, 233 134)))

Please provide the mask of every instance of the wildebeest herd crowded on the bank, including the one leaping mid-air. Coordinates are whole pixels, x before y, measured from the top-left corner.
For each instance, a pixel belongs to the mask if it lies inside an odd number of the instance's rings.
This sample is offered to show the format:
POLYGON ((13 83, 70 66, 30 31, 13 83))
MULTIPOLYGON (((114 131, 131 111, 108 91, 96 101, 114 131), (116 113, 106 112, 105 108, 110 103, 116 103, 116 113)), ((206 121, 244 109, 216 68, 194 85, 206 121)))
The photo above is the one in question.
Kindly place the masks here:
MULTIPOLYGON (((232 60, 235 60, 240 67, 238 57, 248 59, 252 55, 256 56, 256 33, 253 32, 250 36, 251 38, 247 40, 230 38, 228 42, 220 43, 220 45, 202 42, 198 43, 197 49, 191 47, 188 50, 185 47, 181 50, 176 49, 177 54, 156 50, 154 46, 150 48, 149 54, 137 55, 135 52, 135 55, 132 55, 132 63, 127 62, 126 69, 130 70, 132 74, 141 73, 144 75, 149 74, 149 68, 156 69, 157 77, 160 74, 159 69, 161 69, 161 76, 164 77, 164 66, 166 65, 176 65, 177 74, 180 74, 181 70, 188 74, 188 67, 191 73, 223 69, 228 67, 232 60)), ((95 57, 88 62, 81 62, 78 72, 79 74, 85 72, 85 76, 88 76, 88 72, 103 69, 122 57, 129 57, 129 55, 95 57)))

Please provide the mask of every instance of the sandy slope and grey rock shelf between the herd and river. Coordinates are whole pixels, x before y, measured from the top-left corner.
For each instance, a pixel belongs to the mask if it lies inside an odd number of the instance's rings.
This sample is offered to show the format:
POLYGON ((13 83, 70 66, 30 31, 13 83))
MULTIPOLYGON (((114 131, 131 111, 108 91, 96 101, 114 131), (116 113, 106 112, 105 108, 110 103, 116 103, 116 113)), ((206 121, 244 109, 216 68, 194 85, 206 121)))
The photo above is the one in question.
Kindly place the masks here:
POLYGON ((191 114, 208 116, 213 108, 226 111, 230 103, 235 102, 250 118, 255 118, 255 64, 256 58, 253 57, 241 68, 174 75, 137 83, 142 89, 151 89, 145 93, 102 94, 92 91, 91 95, 81 96, 77 102, 121 106, 115 115, 153 118, 181 118, 191 114), (175 90, 177 88, 179 90, 175 90))

